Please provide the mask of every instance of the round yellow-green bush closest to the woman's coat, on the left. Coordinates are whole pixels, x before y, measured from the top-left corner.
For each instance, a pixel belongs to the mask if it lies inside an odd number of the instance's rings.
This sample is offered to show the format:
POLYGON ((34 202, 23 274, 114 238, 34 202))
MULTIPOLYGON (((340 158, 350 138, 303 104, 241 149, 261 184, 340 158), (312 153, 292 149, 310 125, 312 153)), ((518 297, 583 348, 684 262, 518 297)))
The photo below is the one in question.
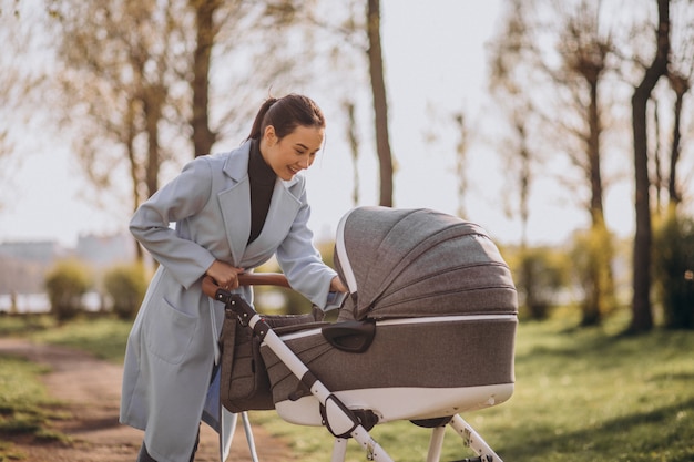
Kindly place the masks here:
POLYGON ((113 301, 113 312, 121 319, 132 319, 147 290, 143 265, 119 265, 104 276, 104 288, 113 301))

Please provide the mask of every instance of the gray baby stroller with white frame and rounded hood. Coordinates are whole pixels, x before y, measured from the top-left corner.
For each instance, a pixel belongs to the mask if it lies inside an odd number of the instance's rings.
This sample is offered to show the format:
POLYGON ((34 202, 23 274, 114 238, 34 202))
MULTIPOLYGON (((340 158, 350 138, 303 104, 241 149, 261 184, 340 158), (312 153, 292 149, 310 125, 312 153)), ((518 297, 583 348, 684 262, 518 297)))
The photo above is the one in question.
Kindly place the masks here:
POLYGON ((500 461, 459 415, 513 392, 517 294, 486 232, 430 209, 358 207, 339 223, 335 264, 349 295, 331 324, 274 328, 241 297, 216 291, 253 332, 272 396, 269 405, 225 407, 326 427, 333 462, 344 461, 349 438, 368 460, 392 461, 369 431, 396 420, 431 429, 428 462, 439 460, 447 425, 477 454, 460 461, 500 461))

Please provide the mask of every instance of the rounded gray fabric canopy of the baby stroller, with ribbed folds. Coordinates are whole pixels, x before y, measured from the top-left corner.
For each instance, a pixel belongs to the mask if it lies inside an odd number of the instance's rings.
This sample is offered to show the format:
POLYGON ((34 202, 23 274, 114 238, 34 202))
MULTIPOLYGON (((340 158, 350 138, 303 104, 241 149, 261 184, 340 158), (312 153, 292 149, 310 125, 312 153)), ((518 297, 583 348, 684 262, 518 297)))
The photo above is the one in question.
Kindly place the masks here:
POLYGON ((484 229, 440 212, 355 208, 338 225, 335 264, 355 319, 518 312, 511 271, 484 229))

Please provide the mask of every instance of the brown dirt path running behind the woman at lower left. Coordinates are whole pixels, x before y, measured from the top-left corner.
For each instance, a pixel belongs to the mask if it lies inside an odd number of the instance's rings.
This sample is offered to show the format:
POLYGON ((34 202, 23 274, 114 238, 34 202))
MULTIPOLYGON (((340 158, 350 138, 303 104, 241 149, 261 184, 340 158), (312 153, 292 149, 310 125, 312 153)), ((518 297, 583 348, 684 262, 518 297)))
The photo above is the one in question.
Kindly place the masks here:
MULTIPOLYGON (((142 443, 142 432, 118 421, 122 368, 68 348, 31 343, 21 339, 0 339, 0 353, 28 358, 50 366, 43 380, 49 393, 64 402, 70 419, 52 423, 69 435, 73 444, 37 444, 16 441, 16 449, 29 462, 134 462, 142 443)), ((254 427, 261 461, 296 461, 285 444, 261 427, 254 427)), ((196 462, 217 462, 217 434, 203 424, 196 462)), ((241 421, 236 429, 229 461, 251 462, 241 421)))

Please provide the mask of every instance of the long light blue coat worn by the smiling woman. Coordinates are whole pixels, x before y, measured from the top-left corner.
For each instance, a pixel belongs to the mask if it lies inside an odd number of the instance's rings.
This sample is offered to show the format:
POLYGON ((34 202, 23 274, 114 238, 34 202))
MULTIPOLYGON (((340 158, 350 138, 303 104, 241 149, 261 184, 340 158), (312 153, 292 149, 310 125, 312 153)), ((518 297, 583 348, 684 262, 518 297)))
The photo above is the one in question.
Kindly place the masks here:
MULTIPOLYGON (((223 305, 201 288, 212 263, 252 270, 276 255, 292 287, 319 307, 336 275, 313 246, 300 175, 277 178, 265 226, 246 244, 249 146, 195 158, 131 220, 132 234, 160 267, 127 340, 120 420, 145 430, 159 462, 187 462, 195 444, 224 318, 223 305)), ((253 302, 251 288, 237 291, 253 302)))

